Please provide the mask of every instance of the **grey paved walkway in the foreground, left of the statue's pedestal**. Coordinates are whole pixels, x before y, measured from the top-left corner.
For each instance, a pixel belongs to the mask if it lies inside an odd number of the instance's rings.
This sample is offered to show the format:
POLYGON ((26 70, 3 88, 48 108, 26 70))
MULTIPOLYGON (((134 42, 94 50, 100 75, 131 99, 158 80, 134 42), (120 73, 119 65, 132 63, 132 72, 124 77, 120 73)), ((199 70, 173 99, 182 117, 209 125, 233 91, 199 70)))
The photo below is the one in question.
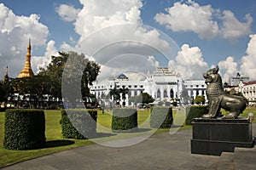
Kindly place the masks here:
POLYGON ((180 130, 172 135, 156 133, 139 144, 124 148, 90 144, 23 161, 3 169, 218 169, 219 156, 190 154, 191 133, 191 130, 180 130))

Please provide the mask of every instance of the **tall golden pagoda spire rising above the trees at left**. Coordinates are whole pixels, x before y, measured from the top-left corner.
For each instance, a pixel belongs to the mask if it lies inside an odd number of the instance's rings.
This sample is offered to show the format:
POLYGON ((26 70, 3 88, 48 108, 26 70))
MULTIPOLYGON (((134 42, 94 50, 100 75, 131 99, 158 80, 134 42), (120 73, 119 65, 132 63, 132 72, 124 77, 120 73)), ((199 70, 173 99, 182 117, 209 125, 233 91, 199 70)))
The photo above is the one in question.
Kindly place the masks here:
POLYGON ((25 65, 22 69, 22 71, 20 72, 20 75, 18 76, 18 78, 23 78, 23 77, 34 77, 34 73, 32 71, 32 67, 31 67, 31 42, 29 39, 28 45, 27 45, 27 51, 26 51, 26 62, 25 65))

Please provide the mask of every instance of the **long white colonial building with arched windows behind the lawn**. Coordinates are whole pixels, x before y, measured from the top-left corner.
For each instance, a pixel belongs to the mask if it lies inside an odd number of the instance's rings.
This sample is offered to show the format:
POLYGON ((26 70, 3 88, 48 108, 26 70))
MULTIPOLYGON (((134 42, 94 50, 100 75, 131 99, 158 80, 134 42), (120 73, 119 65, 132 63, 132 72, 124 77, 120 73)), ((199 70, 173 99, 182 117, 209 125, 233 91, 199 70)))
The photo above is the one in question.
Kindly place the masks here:
MULTIPOLYGON (((131 81, 125 74, 117 77, 109 77, 104 82, 93 82, 90 91, 96 94, 96 98, 104 100, 106 105, 111 105, 112 99, 108 94, 113 88, 128 88, 129 93, 125 95, 125 105, 133 105, 129 99, 141 93, 148 93, 154 98, 154 102, 172 102, 173 99, 180 99, 183 90, 189 94, 189 99, 195 99, 197 95, 206 96, 206 84, 204 80, 185 80, 176 72, 170 71, 167 67, 159 67, 152 74, 141 81, 131 81)), ((123 99, 122 99, 123 100, 123 99)))

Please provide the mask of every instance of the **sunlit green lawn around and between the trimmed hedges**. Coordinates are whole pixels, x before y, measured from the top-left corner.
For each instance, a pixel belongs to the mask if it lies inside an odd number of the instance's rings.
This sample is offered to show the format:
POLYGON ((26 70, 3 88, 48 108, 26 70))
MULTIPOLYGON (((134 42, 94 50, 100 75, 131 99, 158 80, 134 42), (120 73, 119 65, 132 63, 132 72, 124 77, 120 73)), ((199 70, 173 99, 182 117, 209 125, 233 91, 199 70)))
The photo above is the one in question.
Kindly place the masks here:
MULTIPOLYGON (((256 113, 256 109, 247 109, 241 116, 247 117, 248 112, 256 113)), ((175 117, 177 112, 173 110, 173 117, 175 117)), ((138 125, 140 128, 143 128, 143 122, 146 122, 149 116, 149 111, 138 111, 138 125)), ((4 133, 4 112, 0 112, 0 168, 15 162, 25 161, 28 159, 32 159, 38 156, 49 155, 61 150, 68 150, 72 148, 76 148, 79 146, 84 146, 87 144, 93 144, 91 140, 83 140, 83 139, 63 139, 61 135, 61 111, 45 111, 45 135, 47 144, 46 147, 39 150, 6 150, 3 148, 3 133, 4 133)), ((112 112, 111 111, 98 111, 97 122, 102 125, 102 127, 106 127, 111 129, 111 121, 112 121, 112 112)), ((256 121, 254 121, 256 122, 256 121)), ((179 127, 174 127, 178 128, 179 127)), ((190 129, 191 126, 183 126, 181 129, 190 129)), ((97 128, 97 132, 101 132, 101 128, 97 128)), ((157 129, 156 133, 169 132, 170 129, 157 129)), ((107 141, 112 139, 123 139, 132 136, 142 135, 151 133, 150 131, 142 132, 142 133, 120 133, 117 135, 113 135, 111 137, 106 137, 102 139, 98 139, 100 141, 107 141)), ((97 139, 96 139, 97 140, 97 139)))

